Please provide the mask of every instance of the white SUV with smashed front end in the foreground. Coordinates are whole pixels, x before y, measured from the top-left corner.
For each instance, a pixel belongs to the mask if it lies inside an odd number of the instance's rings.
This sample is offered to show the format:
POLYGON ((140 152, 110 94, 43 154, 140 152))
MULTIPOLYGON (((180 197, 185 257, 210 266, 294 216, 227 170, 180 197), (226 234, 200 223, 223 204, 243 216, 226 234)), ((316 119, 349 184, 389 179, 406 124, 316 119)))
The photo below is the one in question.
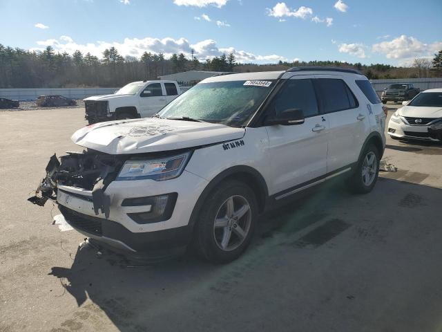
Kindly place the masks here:
POLYGON ((30 201, 57 199, 73 228, 135 256, 175 255, 193 240, 206 259, 231 261, 278 201, 335 176, 370 192, 384 127, 357 71, 211 77, 154 118, 79 129, 72 139, 87 151, 61 165, 53 156, 30 201))

